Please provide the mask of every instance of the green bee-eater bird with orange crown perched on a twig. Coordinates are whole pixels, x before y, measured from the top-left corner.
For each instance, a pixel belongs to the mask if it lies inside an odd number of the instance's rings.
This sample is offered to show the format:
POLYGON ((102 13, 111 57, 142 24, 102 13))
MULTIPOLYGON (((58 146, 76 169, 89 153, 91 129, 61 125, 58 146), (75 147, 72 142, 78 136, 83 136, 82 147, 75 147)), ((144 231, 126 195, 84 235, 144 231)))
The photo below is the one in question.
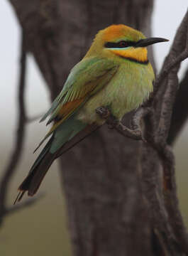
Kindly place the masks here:
POLYGON ((26 191, 33 196, 52 162, 106 122, 96 113, 98 107, 108 107, 121 122, 127 112, 148 99, 155 75, 147 46, 165 41, 146 38, 124 24, 113 24, 96 34, 92 46, 70 70, 60 94, 40 120, 50 116, 47 124, 53 124, 39 146, 50 139, 18 187, 14 203, 21 201, 26 191))

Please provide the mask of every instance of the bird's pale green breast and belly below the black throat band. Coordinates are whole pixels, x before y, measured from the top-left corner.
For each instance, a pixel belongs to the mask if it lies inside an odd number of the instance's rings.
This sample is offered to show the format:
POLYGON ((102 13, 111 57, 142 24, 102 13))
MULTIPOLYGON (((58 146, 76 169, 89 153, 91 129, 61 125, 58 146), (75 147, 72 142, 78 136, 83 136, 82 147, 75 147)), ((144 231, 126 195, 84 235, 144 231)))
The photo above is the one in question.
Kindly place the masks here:
MULTIPOLYGON (((105 65, 105 60, 104 65, 105 65)), ((103 124, 104 120, 96 114, 99 106, 110 106, 111 113, 121 120, 126 112, 139 107, 153 91, 153 68, 150 64, 143 65, 130 60, 114 60, 114 70, 107 85, 91 97, 77 113, 77 119, 83 122, 97 122, 103 124)))

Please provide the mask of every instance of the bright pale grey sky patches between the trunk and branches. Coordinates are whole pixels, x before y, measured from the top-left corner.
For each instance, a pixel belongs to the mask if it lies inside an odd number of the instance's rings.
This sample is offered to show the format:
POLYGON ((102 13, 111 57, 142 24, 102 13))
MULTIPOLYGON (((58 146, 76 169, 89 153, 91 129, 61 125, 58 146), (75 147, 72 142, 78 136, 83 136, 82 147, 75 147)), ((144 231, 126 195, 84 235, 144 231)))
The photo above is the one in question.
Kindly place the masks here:
MULTIPOLYGON (((185 12, 187 0, 155 0, 153 12, 153 36, 170 39, 170 43, 155 45, 157 67, 170 49, 170 44, 175 36, 185 12)), ((1 0, 0 4, 0 29, 1 29, 1 136, 6 139, 13 138, 16 124, 16 87, 18 82, 18 53, 20 28, 16 16, 11 9, 9 1, 1 0)), ((71 57, 70 57, 71 58, 71 57)), ((180 75, 188 65, 187 60, 182 65, 180 75)), ((45 90, 43 78, 35 67, 33 58, 28 61, 27 76, 27 106, 29 114, 44 112, 48 107, 48 93, 45 90), (33 104, 34 102, 34 104, 33 104)))

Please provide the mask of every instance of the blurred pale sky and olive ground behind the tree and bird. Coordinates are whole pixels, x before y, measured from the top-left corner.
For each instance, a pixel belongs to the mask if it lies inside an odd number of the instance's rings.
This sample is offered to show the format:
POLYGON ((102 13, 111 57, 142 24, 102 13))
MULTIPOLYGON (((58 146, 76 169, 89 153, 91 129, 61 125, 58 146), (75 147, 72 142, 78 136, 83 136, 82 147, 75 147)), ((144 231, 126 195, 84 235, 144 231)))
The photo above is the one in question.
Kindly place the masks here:
MULTIPOLYGON (((153 36, 170 39, 170 43, 154 45, 157 70, 160 70, 162 61, 170 49, 179 23, 187 10, 187 1, 155 1, 153 12, 153 36), (169 9, 170 7, 170 9, 169 9)), ((0 4, 1 29, 1 126, 0 126, 0 175, 9 161, 13 147, 17 106, 16 93, 18 86, 18 61, 21 30, 7 0, 0 4)), ((87 50, 87 49, 86 49, 87 50)), ((70 56, 71 57, 71 56, 70 56)), ((188 67, 188 61, 182 63, 179 79, 188 67)), ((48 91, 32 56, 28 60, 26 80, 26 104, 29 117, 42 114, 50 105, 48 91)), ((43 138, 47 128, 38 121, 27 125, 26 141, 23 156, 16 175, 9 188, 8 203, 11 205, 17 195, 18 184, 28 173, 35 155, 33 149, 43 138)), ((187 180, 188 180, 188 127, 185 126, 181 136, 175 144, 177 190, 180 208, 185 223, 188 225, 187 180)), ((65 160, 66 161, 66 160, 65 160)), ((45 196, 34 206, 7 216, 0 232, 1 255, 71 255, 69 234, 67 231, 66 202, 62 197, 62 190, 58 181, 57 161, 52 165, 45 178, 40 192, 45 196)))

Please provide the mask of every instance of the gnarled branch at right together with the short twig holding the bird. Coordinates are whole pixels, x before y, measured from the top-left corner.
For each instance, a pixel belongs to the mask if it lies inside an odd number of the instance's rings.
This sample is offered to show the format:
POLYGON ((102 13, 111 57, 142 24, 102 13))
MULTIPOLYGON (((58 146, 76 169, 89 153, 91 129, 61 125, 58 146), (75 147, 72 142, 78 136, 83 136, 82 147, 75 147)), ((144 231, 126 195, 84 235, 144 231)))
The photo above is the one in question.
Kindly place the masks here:
MULTIPOLYGON (((169 55, 165 59, 163 68, 158 75, 154 88, 154 95, 152 100, 149 101, 149 106, 143 106, 141 110, 138 110, 133 116, 133 120, 136 125, 136 130, 130 130, 123 127, 117 122, 114 122, 114 118, 111 114, 107 116, 104 115, 104 119, 108 124, 111 124, 118 132, 120 132, 124 137, 131 137, 130 134, 135 134, 132 139, 140 139, 141 131, 140 122, 142 118, 145 118, 145 139, 148 142, 143 145, 143 157, 145 160, 150 156, 150 161, 147 163, 147 169, 143 164, 143 177, 147 177, 146 187, 143 189, 148 191, 153 191, 153 199, 148 197, 148 193, 145 194, 145 198, 148 198, 148 203, 150 204, 151 215, 155 222, 157 233, 160 234, 162 240, 164 240, 167 246, 165 250, 170 253, 170 255, 177 255, 179 247, 182 248, 182 252, 188 254, 188 235, 187 230, 184 226, 182 215, 179 211, 177 191, 175 183, 175 159, 172 150, 167 146, 167 134, 170 129, 170 118, 172 113, 172 106, 174 104, 175 95, 178 88, 177 72, 179 70, 179 64, 182 60, 188 57, 188 11, 184 16, 184 19, 179 26, 177 34, 175 36, 175 41, 172 45, 169 55), (182 36, 183 35, 183 36, 182 36), (182 41, 183 40, 183 41, 182 41), (181 41, 181 48, 179 48, 179 42, 181 41), (159 95, 163 93, 162 100, 159 101, 159 95), (157 120, 157 115, 155 112, 160 112, 158 115, 159 120, 157 120), (115 125, 114 125, 115 124, 115 125), (136 131, 136 133, 135 133, 136 131), (128 134, 129 133, 129 134, 128 134), (137 135, 137 136, 136 136, 137 135), (156 152, 155 152, 156 151, 156 152), (162 165, 162 192, 164 199, 160 196, 159 188, 150 186, 153 184, 151 178, 156 177, 156 182, 160 182, 157 178, 156 166, 153 168, 155 173, 152 176, 148 175, 148 166, 152 169, 153 161, 156 156, 161 160, 162 165), (148 177, 150 177, 148 179, 148 177), (150 182, 152 182, 150 184, 150 182), (147 189, 148 187, 148 189, 147 189), (154 196, 155 195, 155 196, 154 196), (164 200, 164 201, 163 201, 164 200), (157 208, 157 212, 156 211, 157 208), (154 211, 153 211, 154 210, 154 211)), ((101 109, 101 108, 100 108, 101 109)), ((103 115, 98 111, 101 117, 103 115)), ((134 126, 133 126, 134 127, 134 126)))

